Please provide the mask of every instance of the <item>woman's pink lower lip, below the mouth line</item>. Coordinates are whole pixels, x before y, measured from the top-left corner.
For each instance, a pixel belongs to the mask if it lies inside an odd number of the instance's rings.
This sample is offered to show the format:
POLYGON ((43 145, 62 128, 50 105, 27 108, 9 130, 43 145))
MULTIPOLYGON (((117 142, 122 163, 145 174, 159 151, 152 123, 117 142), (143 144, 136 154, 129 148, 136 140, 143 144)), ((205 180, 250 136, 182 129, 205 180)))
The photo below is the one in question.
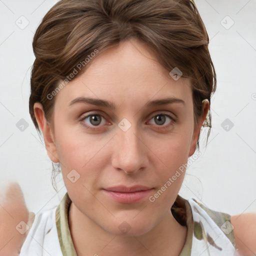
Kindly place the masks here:
POLYGON ((143 191, 132 192, 132 193, 114 192, 114 191, 109 191, 105 189, 102 189, 102 190, 117 202, 133 203, 133 202, 138 202, 144 197, 146 197, 152 191, 152 189, 153 188, 148 190, 143 190, 143 191))

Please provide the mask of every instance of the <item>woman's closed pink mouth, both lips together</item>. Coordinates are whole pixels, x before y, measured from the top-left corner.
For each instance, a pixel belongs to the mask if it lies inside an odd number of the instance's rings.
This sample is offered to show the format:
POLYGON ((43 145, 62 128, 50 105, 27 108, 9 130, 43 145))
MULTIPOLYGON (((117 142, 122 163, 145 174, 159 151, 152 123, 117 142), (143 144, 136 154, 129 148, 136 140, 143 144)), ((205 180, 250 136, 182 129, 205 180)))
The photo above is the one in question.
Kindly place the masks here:
POLYGON ((102 188, 102 191, 110 198, 120 203, 134 203, 145 198, 154 188, 143 185, 113 186, 102 188))

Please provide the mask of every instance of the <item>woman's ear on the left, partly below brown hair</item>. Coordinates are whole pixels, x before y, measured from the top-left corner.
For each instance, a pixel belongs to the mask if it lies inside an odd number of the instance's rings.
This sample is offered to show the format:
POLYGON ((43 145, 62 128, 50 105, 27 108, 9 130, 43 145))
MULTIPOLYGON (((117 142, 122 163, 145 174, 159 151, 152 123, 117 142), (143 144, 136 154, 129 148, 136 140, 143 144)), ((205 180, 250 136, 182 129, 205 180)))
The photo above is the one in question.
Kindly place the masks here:
POLYGON ((35 102, 33 109, 34 109, 34 115, 35 115, 36 121, 38 123, 38 126, 40 127, 40 130, 42 131, 42 134, 43 134, 43 139, 44 139, 44 143, 45 143, 45 148, 47 150, 47 154, 48 154, 49 158, 51 159, 51 161, 59 162, 56 145, 54 142, 54 136, 53 136, 54 133, 53 133, 51 126, 45 119, 42 104, 39 102, 35 102))

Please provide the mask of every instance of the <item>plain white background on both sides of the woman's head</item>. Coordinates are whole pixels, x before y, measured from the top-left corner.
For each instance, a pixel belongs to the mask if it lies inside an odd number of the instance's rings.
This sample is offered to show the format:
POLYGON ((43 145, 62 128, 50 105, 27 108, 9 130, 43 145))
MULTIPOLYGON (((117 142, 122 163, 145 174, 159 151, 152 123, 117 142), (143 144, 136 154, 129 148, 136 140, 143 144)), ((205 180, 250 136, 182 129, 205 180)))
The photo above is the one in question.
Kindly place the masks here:
MULTIPOLYGON (((55 2, 0 1, 0 186, 17 181, 35 213, 58 204, 66 191, 61 180, 58 194, 51 185, 51 161, 28 113, 32 37, 55 2), (15 23, 21 19, 29 21, 23 29, 15 23), (23 131, 16 127, 21 118, 28 122, 23 131)), ((180 195, 229 214, 256 212, 256 1, 195 3, 209 34, 217 90, 208 145, 202 132, 202 154, 187 169, 180 195), (228 131, 221 126, 226 118, 234 124, 228 131)))

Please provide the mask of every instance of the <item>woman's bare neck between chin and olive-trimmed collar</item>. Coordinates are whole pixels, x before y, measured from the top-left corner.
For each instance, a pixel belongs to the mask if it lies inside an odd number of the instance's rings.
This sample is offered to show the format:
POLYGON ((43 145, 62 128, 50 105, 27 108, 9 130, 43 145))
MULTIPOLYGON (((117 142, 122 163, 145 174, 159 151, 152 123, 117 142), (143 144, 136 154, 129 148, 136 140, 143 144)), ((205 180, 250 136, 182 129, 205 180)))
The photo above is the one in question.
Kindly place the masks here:
POLYGON ((122 256, 178 256, 186 238, 186 227, 175 220, 171 211, 150 231, 137 236, 107 232, 80 212, 73 203, 69 208, 68 219, 77 256, 108 256, 113 252, 122 256))

